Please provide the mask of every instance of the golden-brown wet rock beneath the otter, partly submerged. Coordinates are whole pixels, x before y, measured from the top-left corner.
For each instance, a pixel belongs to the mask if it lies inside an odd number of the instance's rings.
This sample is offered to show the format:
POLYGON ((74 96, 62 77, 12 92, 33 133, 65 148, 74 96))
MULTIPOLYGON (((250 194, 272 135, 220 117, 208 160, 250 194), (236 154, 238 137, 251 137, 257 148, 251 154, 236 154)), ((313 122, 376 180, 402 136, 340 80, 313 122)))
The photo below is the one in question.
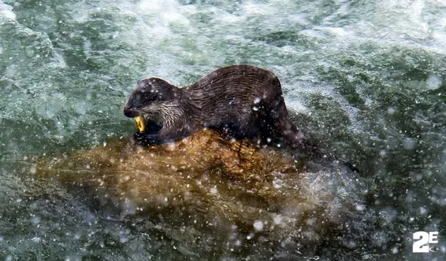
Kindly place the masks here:
POLYGON ((38 158, 33 175, 58 180, 100 212, 146 219, 148 229, 183 227, 180 240, 208 237, 211 229, 266 242, 318 242, 334 233, 354 199, 339 193, 337 182, 351 182, 339 169, 309 172, 286 150, 228 141, 210 130, 149 148, 112 139, 38 158))

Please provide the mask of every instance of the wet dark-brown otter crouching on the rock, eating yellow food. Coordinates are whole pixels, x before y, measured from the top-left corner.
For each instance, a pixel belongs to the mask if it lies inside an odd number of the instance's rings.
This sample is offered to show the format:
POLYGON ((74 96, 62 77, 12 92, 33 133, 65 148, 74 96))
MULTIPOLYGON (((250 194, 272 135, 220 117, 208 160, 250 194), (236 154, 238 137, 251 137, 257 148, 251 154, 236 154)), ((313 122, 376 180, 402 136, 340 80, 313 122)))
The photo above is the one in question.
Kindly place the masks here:
POLYGON ((252 65, 217 69, 186 88, 159 78, 144 79, 123 111, 137 118, 139 132, 134 139, 145 145, 176 141, 208 128, 235 139, 285 140, 291 148, 337 160, 293 125, 279 78, 252 65))

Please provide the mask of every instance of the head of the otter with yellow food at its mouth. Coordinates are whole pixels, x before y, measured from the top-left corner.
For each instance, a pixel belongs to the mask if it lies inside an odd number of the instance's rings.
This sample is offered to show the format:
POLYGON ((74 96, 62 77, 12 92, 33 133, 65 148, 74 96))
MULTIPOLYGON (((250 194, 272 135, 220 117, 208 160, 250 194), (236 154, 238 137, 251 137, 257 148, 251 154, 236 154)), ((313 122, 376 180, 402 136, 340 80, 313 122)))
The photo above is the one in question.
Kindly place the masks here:
POLYGON ((157 78, 139 81, 124 106, 124 115, 135 118, 141 133, 159 131, 179 117, 178 88, 157 78))

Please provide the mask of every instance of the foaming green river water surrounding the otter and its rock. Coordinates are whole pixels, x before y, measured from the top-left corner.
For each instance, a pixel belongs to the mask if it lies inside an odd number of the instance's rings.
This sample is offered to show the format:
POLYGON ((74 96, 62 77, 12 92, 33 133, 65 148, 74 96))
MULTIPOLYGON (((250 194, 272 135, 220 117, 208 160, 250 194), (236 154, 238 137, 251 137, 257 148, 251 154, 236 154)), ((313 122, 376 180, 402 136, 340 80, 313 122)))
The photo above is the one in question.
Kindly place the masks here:
POLYGON ((445 260, 445 50, 443 0, 0 0, 0 258, 445 260), (360 169, 361 186, 337 183, 358 203, 341 234, 234 249, 32 176, 29 157, 134 132, 122 106, 137 80, 186 86, 240 63, 275 72, 296 125, 360 169), (437 252, 412 253, 420 230, 439 232, 437 252))

